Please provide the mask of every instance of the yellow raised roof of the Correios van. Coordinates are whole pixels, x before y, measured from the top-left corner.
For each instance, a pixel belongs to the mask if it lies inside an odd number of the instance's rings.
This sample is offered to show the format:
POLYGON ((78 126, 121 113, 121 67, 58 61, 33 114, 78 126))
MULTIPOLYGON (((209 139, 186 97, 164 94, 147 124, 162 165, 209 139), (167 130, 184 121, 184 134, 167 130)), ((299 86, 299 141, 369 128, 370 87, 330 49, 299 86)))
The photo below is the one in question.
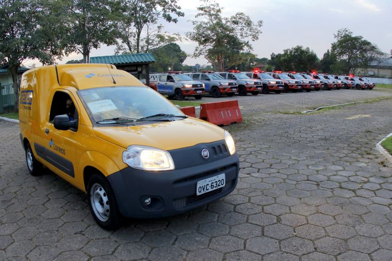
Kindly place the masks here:
POLYGON ((62 64, 33 68, 24 73, 37 75, 51 75, 57 78, 60 86, 72 86, 78 90, 110 86, 144 86, 130 73, 117 70, 110 64, 62 64), (113 79, 116 84, 113 83, 113 79))

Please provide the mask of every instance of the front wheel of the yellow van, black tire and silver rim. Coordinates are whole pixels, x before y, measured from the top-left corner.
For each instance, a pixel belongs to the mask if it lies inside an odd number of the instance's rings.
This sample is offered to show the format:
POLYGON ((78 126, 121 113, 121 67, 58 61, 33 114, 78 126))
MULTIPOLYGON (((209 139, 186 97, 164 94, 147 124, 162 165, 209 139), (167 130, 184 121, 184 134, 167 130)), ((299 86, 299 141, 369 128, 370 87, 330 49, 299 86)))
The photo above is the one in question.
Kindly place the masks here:
POLYGON ((90 177, 87 182, 87 195, 91 214, 101 228, 115 230, 121 227, 123 216, 112 187, 103 175, 95 173, 90 177))

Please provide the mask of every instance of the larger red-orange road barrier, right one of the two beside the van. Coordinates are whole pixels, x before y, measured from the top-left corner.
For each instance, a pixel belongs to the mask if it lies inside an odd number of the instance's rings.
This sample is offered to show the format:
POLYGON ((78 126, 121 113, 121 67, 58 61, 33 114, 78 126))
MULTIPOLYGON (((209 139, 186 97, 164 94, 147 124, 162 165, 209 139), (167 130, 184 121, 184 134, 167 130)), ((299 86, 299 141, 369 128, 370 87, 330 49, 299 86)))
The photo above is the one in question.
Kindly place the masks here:
POLYGON ((230 125, 242 122, 238 100, 210 102, 200 104, 200 119, 215 125, 230 125))

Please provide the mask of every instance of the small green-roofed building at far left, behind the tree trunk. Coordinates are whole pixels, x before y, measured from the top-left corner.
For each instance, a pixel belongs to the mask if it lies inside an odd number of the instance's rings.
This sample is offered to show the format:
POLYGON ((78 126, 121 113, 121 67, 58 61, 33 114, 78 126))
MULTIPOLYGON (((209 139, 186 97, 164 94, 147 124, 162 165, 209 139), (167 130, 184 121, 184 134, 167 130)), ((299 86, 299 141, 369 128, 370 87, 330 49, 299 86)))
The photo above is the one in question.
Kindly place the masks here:
MULTIPOLYGON (((14 81, 11 72, 8 71, 8 64, 0 66, 0 113, 4 110, 12 110, 15 105, 14 81)), ((18 69, 18 87, 21 84, 22 73, 29 68, 19 67, 18 69)))

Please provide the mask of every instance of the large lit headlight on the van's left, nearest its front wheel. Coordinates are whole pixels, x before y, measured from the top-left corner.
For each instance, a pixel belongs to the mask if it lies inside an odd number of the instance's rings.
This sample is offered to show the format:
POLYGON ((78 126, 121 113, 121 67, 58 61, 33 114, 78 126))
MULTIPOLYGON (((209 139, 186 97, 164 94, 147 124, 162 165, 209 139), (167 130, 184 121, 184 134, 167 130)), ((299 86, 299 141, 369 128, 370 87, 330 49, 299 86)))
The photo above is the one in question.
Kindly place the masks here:
POLYGON ((147 146, 131 145, 123 152, 123 162, 143 170, 172 170, 174 163, 169 152, 147 146))

